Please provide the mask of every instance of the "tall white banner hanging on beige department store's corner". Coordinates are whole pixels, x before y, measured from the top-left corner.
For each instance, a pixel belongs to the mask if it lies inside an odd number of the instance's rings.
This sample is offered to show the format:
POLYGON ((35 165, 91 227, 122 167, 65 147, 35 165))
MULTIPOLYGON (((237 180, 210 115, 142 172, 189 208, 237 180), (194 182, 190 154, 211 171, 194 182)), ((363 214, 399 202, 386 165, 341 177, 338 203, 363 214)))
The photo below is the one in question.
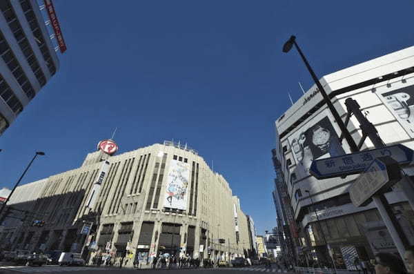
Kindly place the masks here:
POLYGON ((189 178, 190 165, 177 160, 171 160, 167 177, 164 207, 176 208, 182 211, 186 210, 189 178))

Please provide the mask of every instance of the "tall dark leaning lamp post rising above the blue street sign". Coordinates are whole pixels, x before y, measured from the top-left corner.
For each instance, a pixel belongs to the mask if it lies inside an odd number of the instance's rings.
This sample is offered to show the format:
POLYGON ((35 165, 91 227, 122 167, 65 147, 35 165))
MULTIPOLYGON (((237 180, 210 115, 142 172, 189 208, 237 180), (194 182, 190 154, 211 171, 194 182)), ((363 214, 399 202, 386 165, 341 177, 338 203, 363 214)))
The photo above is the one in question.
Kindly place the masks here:
POLYGON ((331 99, 329 99, 328 95, 326 94, 326 91, 324 90, 324 87, 319 82, 319 79, 316 77, 315 72, 313 72, 313 69, 311 68, 311 65, 309 65, 308 60, 306 60, 306 57, 302 53, 302 50, 300 50, 299 46, 297 46, 296 37, 294 35, 292 35, 290 37, 290 39, 288 41, 286 41, 286 43, 283 46, 282 51, 287 53, 287 52, 290 51, 290 49, 292 49, 293 46, 295 46, 295 48, 299 52, 300 57, 302 57, 302 60, 304 61, 305 65, 306 65, 306 68, 308 68, 309 73, 311 73, 313 81, 315 81, 315 84, 316 84, 317 88, 319 89, 319 92, 321 92, 322 97, 324 97, 324 101, 325 101, 326 105, 328 106, 329 110, 331 110, 331 113, 332 113, 333 117, 335 118, 335 120, 337 121, 337 124, 338 124, 339 128, 341 128, 341 131, 344 134, 344 137, 345 137, 346 141, 348 142, 348 145, 351 148, 351 151, 352 152, 358 151, 358 146, 355 143, 354 139, 352 138, 351 134, 346 129, 344 121, 342 121, 342 119, 339 116, 337 110, 333 106, 331 99))

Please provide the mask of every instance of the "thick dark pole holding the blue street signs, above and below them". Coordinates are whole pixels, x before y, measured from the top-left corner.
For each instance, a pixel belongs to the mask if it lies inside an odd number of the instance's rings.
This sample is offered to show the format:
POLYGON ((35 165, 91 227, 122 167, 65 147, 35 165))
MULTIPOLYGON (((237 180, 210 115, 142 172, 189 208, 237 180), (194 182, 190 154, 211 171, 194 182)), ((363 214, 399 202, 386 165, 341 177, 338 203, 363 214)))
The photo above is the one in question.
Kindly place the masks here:
MULTIPOLYGON (((345 100, 345 106, 348 110, 348 116, 346 117, 346 121, 349 120, 349 117, 353 114, 355 118, 358 120, 360 124, 360 128, 362 129, 362 139, 358 144, 358 149, 362 147, 366 137, 373 142, 375 148, 384 148, 386 145, 384 141, 378 135, 377 129, 373 124, 366 119, 365 115, 359 109, 359 104, 352 98, 348 98, 345 100)), ((408 195, 407 195, 408 196, 408 195)), ((413 198, 413 197, 411 197, 413 198)), ((377 206, 378 211, 388 229, 388 232, 391 234, 393 242, 395 246, 397 246, 398 253, 400 253, 401 257, 404 257, 405 248, 408 247, 408 239, 402 231, 400 224, 395 217, 390 204, 386 200, 384 194, 377 194, 373 196, 373 201, 377 206)))

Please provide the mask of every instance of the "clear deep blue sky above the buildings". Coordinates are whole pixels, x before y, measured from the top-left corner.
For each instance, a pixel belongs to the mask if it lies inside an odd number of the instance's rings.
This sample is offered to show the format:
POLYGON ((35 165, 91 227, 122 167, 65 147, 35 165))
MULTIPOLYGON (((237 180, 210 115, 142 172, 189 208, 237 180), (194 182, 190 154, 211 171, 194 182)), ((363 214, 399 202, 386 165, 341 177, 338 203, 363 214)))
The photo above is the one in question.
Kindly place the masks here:
POLYGON ((0 187, 77 168, 97 142, 120 151, 188 142, 214 161, 257 231, 275 226, 273 122, 319 77, 413 45, 413 1, 55 0, 68 51, 0 137, 0 187))

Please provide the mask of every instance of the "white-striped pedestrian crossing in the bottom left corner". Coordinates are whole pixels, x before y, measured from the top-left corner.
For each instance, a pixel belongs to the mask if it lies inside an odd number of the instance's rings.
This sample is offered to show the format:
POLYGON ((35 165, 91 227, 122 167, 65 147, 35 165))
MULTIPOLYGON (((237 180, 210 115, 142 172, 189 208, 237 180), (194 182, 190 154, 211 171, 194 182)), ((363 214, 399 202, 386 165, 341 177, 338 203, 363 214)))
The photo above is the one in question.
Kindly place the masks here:
POLYGON ((0 271, 1 270, 16 271, 20 273, 58 273, 68 271, 104 271, 110 269, 86 266, 0 266, 0 271))

